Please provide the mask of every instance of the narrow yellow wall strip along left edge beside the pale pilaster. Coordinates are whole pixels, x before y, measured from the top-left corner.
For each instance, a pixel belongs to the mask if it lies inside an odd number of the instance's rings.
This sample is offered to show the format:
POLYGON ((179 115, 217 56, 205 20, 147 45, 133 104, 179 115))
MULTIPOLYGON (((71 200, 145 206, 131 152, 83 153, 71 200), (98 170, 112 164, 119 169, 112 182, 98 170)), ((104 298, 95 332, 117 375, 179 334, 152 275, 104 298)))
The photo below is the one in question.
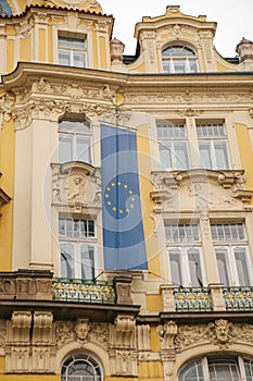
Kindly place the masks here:
MULTIPOLYGON (((14 122, 3 121, 0 132, 0 177, 1 188, 13 198, 14 193, 14 122)), ((13 201, 1 209, 0 219, 0 271, 12 269, 13 201)))

